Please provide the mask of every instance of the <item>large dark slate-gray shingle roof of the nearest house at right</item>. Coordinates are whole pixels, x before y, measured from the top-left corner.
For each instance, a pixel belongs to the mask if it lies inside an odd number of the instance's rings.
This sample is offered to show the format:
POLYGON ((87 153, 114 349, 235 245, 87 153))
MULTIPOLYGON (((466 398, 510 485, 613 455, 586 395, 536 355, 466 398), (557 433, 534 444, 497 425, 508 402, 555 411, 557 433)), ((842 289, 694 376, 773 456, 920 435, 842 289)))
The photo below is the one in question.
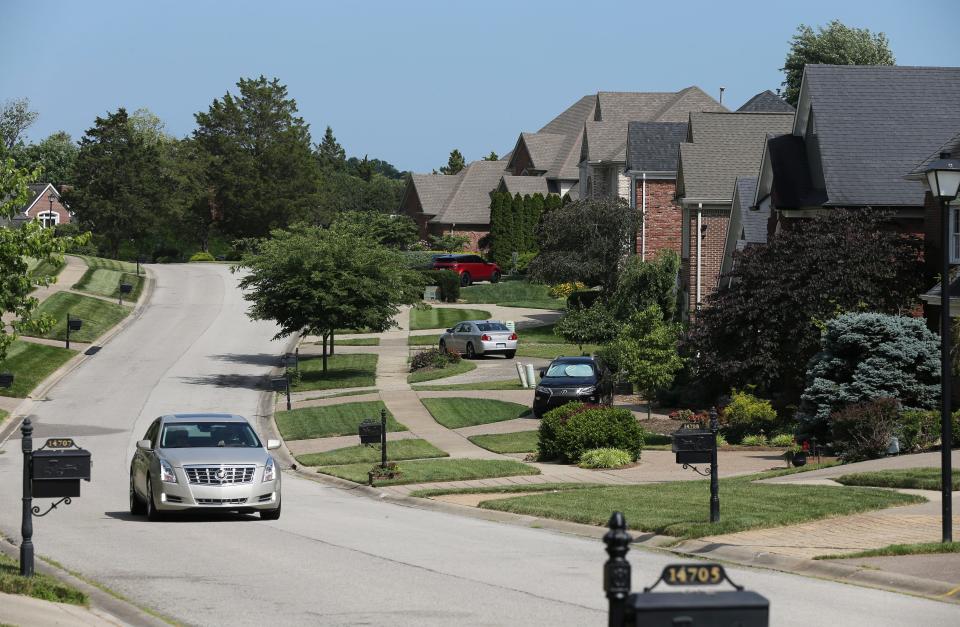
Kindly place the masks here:
POLYGON ((829 205, 919 206, 903 178, 960 128, 960 67, 808 65, 829 205))

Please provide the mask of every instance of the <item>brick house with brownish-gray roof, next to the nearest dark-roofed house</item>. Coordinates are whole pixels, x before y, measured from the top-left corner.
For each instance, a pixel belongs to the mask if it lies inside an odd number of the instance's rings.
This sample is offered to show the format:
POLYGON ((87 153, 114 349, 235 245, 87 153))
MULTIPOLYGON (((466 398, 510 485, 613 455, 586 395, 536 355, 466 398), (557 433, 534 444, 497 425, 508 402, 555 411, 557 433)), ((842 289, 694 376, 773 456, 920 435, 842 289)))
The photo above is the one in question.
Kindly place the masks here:
POLYGON ((717 287, 737 177, 756 175, 767 136, 789 132, 793 117, 788 112, 690 114, 677 162, 685 312, 696 311, 717 287))

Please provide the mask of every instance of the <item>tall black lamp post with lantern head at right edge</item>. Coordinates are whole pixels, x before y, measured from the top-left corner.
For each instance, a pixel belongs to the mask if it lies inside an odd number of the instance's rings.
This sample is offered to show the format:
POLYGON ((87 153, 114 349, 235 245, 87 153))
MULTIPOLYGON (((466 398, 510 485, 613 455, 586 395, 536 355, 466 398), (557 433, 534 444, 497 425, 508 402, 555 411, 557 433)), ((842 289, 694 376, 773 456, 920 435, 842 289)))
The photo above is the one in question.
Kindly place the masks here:
POLYGON ((953 425, 950 417, 950 253, 952 233, 950 228, 950 201, 957 197, 960 188, 960 160, 951 159, 950 153, 941 152, 940 158, 921 171, 931 195, 940 201, 940 230, 943 246, 943 267, 940 278, 940 480, 942 492, 943 542, 953 541, 953 470, 950 453, 953 448, 953 425))

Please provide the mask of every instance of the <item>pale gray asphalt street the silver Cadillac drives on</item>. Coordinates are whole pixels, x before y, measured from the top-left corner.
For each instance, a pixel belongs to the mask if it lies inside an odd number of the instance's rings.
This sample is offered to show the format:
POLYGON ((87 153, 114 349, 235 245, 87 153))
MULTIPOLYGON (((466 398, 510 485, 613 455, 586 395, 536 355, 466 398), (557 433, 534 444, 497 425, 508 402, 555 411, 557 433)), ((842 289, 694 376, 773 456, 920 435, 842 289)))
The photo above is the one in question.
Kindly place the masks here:
MULTIPOLYGON (((134 443, 166 412, 255 417, 281 343, 220 264, 152 267, 143 315, 35 405, 36 435, 93 454, 83 495, 34 522, 39 555, 187 624, 600 625, 597 540, 379 502, 284 476, 283 516, 127 513, 134 443)), ((398 417, 401 418, 401 417, 398 417)), ((0 531, 20 535, 20 441, 0 454, 0 531)), ((676 558, 634 550, 634 587, 676 558)), ((731 577, 773 625, 956 625, 956 605, 765 570, 731 577)))

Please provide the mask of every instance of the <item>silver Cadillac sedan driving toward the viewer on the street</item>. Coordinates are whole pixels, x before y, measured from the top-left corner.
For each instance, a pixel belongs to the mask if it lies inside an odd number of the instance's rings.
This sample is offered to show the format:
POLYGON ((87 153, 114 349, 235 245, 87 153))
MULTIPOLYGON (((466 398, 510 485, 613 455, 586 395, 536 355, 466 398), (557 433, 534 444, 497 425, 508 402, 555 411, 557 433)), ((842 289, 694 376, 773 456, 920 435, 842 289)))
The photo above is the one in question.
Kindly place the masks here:
POLYGON ((130 463, 130 513, 232 510, 280 518, 280 468, 246 418, 173 414, 153 421, 130 463))

